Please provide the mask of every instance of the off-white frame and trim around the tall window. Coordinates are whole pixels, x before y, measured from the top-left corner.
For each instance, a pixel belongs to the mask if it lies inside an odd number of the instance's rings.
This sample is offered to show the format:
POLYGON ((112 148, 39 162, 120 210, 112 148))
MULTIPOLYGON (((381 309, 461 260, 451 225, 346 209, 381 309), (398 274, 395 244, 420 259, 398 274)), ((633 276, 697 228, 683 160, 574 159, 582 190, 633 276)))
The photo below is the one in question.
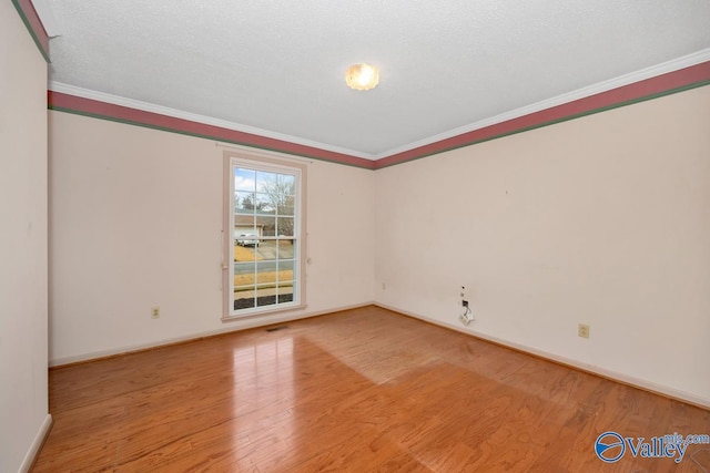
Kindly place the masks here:
POLYGON ((276 153, 226 150, 224 151, 223 183, 223 263, 222 263, 222 320, 242 320, 244 318, 271 315, 282 311, 305 309, 305 261, 306 261, 306 163, 296 157, 276 153), (294 294, 290 302, 270 306, 234 309, 234 166, 258 171, 293 174, 296 176, 294 205, 294 294))

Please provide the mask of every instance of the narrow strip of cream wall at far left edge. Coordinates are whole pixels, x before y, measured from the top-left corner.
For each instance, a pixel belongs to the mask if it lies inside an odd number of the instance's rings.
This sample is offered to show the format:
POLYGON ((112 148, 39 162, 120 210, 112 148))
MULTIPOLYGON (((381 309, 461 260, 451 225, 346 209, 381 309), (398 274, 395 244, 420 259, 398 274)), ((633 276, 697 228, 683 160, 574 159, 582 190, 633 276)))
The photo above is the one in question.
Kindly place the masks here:
POLYGON ((28 467, 47 403, 47 63, 0 2, 0 471, 28 467))

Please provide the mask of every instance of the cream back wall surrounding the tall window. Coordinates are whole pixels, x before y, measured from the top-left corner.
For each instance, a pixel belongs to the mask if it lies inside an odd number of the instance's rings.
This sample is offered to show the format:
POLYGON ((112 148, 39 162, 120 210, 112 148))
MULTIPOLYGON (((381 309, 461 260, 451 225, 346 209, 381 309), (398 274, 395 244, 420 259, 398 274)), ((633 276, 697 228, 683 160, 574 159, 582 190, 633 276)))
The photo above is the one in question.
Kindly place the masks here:
POLYGON ((223 151, 50 112, 50 364, 373 300, 373 173, 314 161, 308 308, 222 322, 223 151))

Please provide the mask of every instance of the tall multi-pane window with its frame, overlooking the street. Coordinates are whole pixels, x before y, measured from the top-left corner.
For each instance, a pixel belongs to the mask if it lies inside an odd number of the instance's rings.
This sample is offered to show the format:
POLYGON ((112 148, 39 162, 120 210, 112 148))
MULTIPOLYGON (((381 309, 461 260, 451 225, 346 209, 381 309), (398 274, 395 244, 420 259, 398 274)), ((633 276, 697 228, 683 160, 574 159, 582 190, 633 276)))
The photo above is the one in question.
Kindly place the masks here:
POLYGON ((304 308, 305 165, 256 152, 224 156, 223 319, 304 308))

